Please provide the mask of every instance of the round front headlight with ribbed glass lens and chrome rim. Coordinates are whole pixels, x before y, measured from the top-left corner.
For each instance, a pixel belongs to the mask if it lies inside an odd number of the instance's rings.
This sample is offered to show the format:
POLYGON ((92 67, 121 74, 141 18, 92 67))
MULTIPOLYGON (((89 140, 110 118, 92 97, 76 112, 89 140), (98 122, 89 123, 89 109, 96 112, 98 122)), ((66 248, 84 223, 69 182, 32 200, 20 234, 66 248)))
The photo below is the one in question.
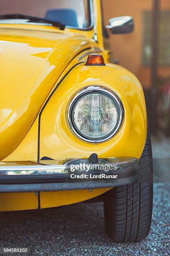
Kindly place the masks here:
POLYGON ((88 142, 103 142, 119 130, 123 108, 114 92, 100 86, 80 91, 71 101, 68 120, 72 131, 88 142))

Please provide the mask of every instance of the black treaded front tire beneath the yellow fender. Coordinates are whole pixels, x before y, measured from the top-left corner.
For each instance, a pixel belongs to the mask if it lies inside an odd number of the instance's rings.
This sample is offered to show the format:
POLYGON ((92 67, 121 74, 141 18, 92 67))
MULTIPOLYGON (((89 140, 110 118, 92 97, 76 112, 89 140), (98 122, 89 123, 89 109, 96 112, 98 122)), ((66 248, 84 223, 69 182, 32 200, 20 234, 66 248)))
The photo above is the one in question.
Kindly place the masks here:
POLYGON ((104 201, 105 228, 115 242, 141 241, 150 231, 153 159, 149 131, 139 166, 138 182, 114 187, 104 201))

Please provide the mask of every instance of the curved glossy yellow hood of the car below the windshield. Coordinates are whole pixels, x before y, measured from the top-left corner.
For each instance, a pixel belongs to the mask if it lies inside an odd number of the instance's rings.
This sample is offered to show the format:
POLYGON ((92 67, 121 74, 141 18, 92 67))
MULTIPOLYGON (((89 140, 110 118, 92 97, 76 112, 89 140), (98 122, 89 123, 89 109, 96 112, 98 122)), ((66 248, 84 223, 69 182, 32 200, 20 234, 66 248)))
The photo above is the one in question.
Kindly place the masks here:
POLYGON ((23 140, 47 95, 87 38, 31 25, 0 25, 0 159, 23 140))

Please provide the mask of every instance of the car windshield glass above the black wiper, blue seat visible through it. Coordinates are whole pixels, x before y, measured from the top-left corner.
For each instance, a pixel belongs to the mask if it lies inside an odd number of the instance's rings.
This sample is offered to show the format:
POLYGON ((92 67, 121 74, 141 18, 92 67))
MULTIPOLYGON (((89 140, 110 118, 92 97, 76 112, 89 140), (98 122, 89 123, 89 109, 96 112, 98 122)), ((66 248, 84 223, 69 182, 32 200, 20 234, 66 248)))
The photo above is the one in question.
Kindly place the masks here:
POLYGON ((12 13, 60 21, 74 28, 91 26, 90 0, 0 0, 0 15, 12 13))

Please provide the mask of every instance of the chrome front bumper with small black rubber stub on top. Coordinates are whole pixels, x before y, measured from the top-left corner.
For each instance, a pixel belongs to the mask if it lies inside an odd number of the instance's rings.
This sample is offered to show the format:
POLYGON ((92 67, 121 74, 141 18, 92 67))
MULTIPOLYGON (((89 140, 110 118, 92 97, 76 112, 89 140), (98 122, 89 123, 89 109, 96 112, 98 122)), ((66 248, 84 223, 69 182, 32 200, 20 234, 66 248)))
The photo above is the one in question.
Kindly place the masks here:
POLYGON ((136 182, 137 175, 133 157, 0 162, 0 192, 107 188, 136 182))

